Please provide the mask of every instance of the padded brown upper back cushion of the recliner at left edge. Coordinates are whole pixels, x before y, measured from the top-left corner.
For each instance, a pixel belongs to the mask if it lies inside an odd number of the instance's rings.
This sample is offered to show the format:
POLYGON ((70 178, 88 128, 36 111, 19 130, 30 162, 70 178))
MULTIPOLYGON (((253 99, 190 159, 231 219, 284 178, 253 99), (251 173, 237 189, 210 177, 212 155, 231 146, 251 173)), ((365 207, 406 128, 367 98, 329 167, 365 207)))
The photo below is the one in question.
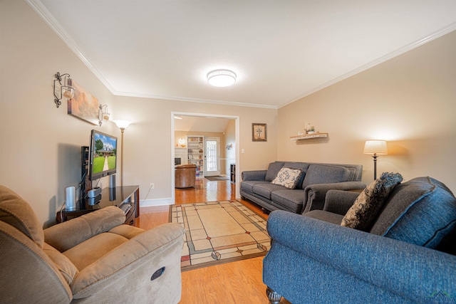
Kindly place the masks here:
POLYGON ((43 248, 43 227, 31 206, 11 189, 0 185, 0 221, 14 226, 43 248))

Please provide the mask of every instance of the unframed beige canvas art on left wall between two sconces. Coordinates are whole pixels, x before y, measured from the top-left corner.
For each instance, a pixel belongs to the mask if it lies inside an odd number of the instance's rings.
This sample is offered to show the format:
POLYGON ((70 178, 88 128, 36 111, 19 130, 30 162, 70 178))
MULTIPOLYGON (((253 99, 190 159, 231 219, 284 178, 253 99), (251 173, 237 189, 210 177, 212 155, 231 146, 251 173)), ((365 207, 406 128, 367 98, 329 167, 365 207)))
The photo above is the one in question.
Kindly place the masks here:
POLYGON ((72 85, 75 90, 73 98, 68 100, 68 114, 98 125, 98 99, 76 81, 73 80, 72 85))

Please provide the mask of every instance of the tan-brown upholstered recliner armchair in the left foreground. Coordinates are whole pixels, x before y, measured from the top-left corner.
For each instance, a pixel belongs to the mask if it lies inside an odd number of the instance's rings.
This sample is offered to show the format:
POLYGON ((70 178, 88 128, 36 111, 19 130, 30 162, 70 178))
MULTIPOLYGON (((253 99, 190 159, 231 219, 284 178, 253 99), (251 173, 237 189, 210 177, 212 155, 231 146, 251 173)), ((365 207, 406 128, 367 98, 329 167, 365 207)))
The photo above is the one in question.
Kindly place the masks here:
POLYGON ((184 229, 123 224, 115 206, 42 229, 0 186, 2 303, 178 303, 184 229))

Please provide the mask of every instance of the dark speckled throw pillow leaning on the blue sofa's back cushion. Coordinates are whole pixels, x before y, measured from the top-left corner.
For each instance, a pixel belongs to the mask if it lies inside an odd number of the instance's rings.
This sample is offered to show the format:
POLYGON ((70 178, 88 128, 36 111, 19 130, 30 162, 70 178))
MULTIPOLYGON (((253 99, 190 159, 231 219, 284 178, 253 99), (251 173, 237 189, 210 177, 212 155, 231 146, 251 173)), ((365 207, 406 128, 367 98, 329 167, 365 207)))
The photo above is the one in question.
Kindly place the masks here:
POLYGON ((341 226, 351 227, 358 230, 366 230, 388 198, 393 188, 402 182, 399 173, 385 172, 379 179, 375 179, 356 198, 353 206, 348 209, 342 219, 341 226))

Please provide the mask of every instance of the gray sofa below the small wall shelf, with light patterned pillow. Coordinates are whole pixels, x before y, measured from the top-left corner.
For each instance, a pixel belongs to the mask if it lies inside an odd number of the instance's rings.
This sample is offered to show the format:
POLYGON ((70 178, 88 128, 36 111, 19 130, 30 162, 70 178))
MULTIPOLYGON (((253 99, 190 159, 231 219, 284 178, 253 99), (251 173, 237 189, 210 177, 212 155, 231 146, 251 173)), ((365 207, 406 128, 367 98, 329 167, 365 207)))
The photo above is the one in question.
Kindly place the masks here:
POLYGON ((267 170, 242 172, 241 197, 268 211, 285 210, 296 214, 323 209, 330 189, 364 189, 361 164, 324 164, 313 162, 271 162, 267 170), (294 189, 273 184, 282 168, 301 169, 294 189))

